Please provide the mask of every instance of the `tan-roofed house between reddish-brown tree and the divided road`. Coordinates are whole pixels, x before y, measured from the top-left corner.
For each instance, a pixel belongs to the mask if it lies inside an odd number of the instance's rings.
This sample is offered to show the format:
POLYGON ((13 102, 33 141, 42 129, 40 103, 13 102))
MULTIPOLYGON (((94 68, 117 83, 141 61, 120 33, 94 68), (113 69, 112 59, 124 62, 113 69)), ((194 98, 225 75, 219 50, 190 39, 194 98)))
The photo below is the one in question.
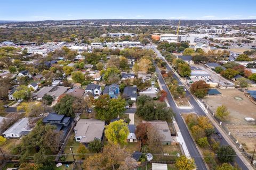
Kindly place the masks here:
POLYGON ((171 131, 166 121, 142 121, 142 123, 150 123, 158 129, 158 132, 163 135, 162 144, 171 145, 173 142, 171 131))

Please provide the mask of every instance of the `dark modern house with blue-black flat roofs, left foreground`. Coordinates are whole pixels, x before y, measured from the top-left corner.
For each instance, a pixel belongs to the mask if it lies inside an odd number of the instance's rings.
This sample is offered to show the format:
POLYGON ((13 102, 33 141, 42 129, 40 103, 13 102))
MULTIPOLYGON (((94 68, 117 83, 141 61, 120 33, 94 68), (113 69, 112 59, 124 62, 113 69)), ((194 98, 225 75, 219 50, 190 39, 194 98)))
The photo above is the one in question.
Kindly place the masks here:
POLYGON ((55 131, 57 132, 62 131, 62 138, 63 138, 63 137, 66 137, 68 131, 71 128, 71 125, 73 124, 73 118, 66 117, 65 115, 59 115, 57 113, 49 113, 46 117, 44 117, 43 123, 55 125, 56 126, 55 131))

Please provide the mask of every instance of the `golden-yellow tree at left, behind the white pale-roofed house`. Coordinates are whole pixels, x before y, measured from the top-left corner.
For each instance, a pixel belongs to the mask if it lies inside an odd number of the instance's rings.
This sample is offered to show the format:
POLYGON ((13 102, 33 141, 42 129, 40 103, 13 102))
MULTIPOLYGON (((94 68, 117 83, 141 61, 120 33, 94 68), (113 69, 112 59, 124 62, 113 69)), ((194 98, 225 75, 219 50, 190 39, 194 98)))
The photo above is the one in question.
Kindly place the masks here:
POLYGON ((39 101, 30 103, 23 102, 17 107, 18 112, 22 110, 25 111, 26 117, 37 117, 40 113, 44 112, 44 107, 39 101))

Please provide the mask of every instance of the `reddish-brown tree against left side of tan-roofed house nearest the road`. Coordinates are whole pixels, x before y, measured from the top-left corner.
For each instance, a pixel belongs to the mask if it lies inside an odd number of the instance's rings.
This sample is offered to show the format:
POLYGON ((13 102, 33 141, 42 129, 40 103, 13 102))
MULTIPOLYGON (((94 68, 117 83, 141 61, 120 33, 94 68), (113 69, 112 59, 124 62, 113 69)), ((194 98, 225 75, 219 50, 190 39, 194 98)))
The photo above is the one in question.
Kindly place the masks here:
POLYGON ((136 127, 136 137, 141 141, 141 143, 143 145, 147 144, 148 141, 148 131, 151 128, 151 124, 150 123, 140 123, 137 127, 136 127))

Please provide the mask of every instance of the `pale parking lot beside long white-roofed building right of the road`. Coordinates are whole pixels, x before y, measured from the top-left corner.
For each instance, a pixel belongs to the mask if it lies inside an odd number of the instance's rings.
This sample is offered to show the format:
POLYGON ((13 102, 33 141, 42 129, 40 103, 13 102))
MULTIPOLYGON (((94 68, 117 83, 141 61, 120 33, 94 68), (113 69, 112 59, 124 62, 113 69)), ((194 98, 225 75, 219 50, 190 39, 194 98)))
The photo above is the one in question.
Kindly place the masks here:
POLYGON ((199 77, 196 79, 191 79, 193 81, 198 81, 198 80, 205 80, 207 82, 212 82, 213 84, 217 83, 219 84, 219 86, 221 87, 234 87, 234 83, 230 82, 229 80, 221 77, 220 74, 217 74, 216 72, 214 72, 211 69, 208 69, 206 66, 204 65, 199 65, 199 64, 195 64, 195 65, 191 65, 193 68, 196 67, 197 70, 202 70, 204 72, 207 72, 209 74, 209 78, 205 79, 204 77, 199 77))

